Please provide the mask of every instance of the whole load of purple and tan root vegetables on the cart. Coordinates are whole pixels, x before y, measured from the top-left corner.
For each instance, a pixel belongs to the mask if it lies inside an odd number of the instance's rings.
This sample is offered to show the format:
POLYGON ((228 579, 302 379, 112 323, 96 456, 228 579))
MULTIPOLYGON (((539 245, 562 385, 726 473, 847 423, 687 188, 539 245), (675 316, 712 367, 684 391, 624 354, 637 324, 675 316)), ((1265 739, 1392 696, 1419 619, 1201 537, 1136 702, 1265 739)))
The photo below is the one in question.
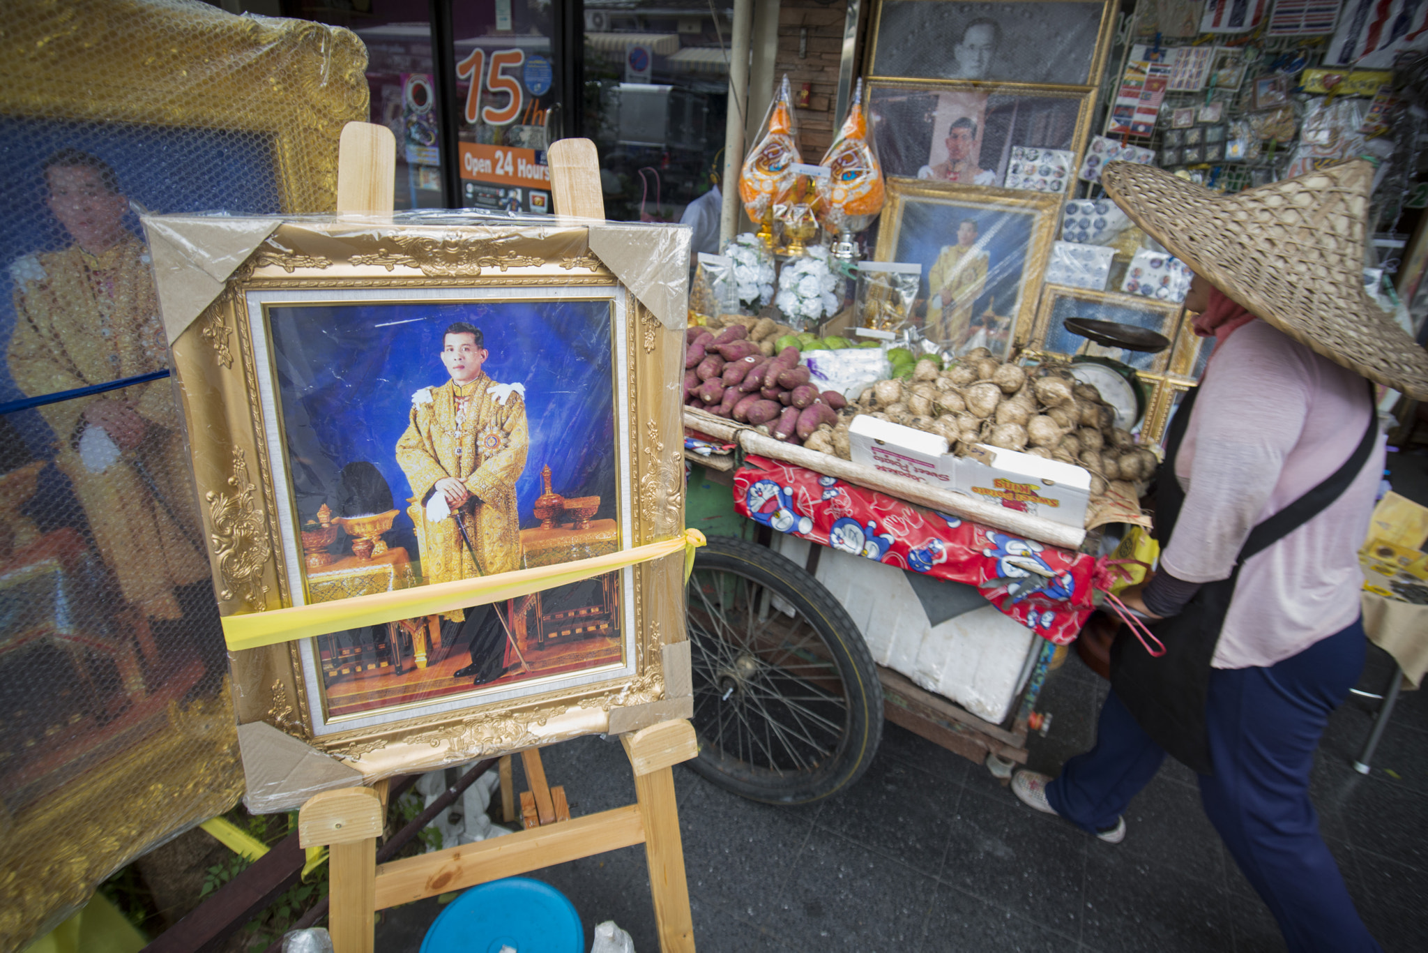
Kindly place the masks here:
POLYGON ((1021 367, 980 347, 947 367, 918 360, 911 376, 880 380, 850 403, 810 383, 795 347, 774 351, 771 341, 785 330, 770 319, 734 316, 724 327, 691 327, 684 401, 844 460, 853 420, 871 414, 941 434, 960 456, 982 443, 1085 467, 1091 496, 1111 489, 1134 500, 1135 484, 1160 463, 1115 426, 1115 411, 1070 364, 1021 367))

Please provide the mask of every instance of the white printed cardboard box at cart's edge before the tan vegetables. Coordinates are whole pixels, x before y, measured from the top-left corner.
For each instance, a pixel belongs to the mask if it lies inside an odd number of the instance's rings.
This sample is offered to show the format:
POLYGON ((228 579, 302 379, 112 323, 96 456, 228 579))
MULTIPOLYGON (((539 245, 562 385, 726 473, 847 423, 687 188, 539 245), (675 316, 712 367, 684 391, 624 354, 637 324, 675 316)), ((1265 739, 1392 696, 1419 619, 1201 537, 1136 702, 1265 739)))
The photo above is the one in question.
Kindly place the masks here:
POLYGON ((1091 474, 1084 467, 980 443, 967 457, 948 453, 947 439, 912 427, 854 417, 848 427, 853 463, 1001 503, 1067 526, 1085 526, 1091 474))

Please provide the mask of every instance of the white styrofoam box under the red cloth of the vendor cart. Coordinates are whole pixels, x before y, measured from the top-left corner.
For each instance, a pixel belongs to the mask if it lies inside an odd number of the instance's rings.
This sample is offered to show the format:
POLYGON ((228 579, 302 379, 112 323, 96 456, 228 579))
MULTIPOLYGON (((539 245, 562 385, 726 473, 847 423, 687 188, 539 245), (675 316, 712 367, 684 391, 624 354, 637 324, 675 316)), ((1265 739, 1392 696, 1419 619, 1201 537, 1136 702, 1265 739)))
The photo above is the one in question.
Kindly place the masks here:
MULTIPOLYGON (((807 564, 807 540, 775 534, 774 546, 807 564)), ((817 576, 853 617, 875 663, 988 722, 1001 723, 1011 712, 1041 647, 1030 629, 991 603, 934 626, 904 570, 835 549, 824 547, 817 576)))

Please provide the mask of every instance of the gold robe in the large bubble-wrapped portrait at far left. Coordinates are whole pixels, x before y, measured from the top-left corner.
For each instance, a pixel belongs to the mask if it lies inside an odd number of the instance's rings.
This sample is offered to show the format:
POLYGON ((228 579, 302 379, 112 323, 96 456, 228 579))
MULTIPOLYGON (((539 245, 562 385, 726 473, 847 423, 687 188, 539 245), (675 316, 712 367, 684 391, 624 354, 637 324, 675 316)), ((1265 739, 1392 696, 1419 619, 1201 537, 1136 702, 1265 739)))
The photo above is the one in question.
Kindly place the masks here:
MULTIPOLYGON (((137 237, 126 234, 100 256, 79 246, 26 256, 10 266, 10 276, 16 310, 10 374, 27 396, 167 366, 169 344, 159 320, 149 253, 137 237)), ((201 532, 171 383, 154 380, 39 410, 59 437, 54 461, 70 479, 94 544, 119 579, 124 599, 143 606, 149 616, 180 619, 173 590, 207 579, 208 562, 194 544, 201 532), (96 400, 133 401, 134 411, 149 423, 141 443, 99 473, 84 464, 77 450, 86 429, 81 414, 96 400)))

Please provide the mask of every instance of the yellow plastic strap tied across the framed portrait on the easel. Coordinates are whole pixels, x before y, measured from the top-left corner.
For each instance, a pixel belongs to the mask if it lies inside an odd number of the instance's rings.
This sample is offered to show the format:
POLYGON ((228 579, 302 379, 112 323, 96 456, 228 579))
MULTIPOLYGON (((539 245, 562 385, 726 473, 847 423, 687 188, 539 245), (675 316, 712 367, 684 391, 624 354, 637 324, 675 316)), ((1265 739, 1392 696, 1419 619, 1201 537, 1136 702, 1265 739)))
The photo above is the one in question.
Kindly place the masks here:
POLYGON ((681 549, 684 550, 685 579, 688 579, 697 546, 704 546, 704 534, 698 530, 685 530, 683 536, 658 543, 647 543, 618 553, 578 559, 555 566, 521 569, 514 573, 501 573, 500 576, 490 577, 460 579, 451 583, 417 586, 416 589, 398 589, 390 593, 356 596, 353 599, 316 603, 313 606, 293 606, 291 609, 224 616, 223 639, 228 643, 228 649, 240 652, 243 649, 260 649, 283 642, 324 636, 331 632, 397 622, 398 619, 417 619, 457 609, 468 609, 471 606, 486 606, 503 599, 527 596, 543 589, 578 583, 583 579, 611 573, 625 566, 634 566, 635 563, 647 563, 678 553, 681 549))

